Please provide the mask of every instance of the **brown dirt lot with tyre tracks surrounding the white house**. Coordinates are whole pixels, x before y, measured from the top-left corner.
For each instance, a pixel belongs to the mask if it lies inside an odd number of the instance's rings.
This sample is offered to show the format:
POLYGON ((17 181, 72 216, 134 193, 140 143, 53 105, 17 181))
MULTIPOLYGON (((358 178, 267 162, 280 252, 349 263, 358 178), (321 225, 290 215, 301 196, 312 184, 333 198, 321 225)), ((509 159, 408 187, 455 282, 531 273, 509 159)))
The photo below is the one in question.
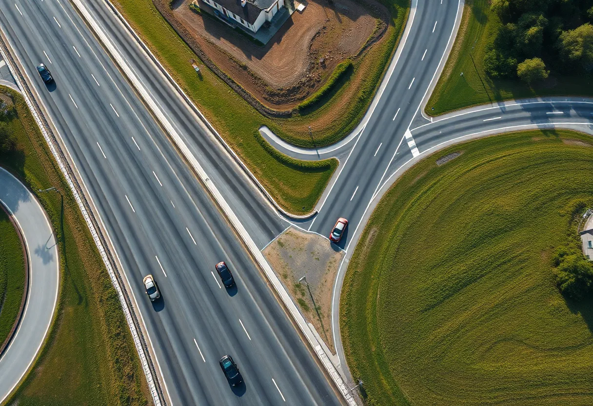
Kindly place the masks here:
POLYGON ((304 2, 304 11, 295 11, 267 45, 258 46, 215 17, 192 11, 191 2, 181 0, 173 6, 181 24, 222 71, 260 102, 279 110, 296 106, 339 62, 355 58, 366 43, 382 36, 389 15, 375 0, 304 2))

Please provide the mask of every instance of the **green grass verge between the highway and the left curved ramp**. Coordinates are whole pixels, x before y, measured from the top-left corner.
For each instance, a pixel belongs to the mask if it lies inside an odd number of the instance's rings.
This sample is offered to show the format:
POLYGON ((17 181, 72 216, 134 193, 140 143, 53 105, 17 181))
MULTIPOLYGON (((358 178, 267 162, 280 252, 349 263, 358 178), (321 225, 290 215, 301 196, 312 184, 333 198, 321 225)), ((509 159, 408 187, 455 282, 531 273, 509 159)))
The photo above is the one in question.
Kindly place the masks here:
POLYGON ((15 102, 8 121, 17 153, 0 156, 2 166, 32 191, 52 186, 42 202, 56 231, 60 293, 55 321, 27 377, 9 405, 145 405, 148 386, 122 307, 68 185, 49 147, 15 91, 0 87, 15 102))

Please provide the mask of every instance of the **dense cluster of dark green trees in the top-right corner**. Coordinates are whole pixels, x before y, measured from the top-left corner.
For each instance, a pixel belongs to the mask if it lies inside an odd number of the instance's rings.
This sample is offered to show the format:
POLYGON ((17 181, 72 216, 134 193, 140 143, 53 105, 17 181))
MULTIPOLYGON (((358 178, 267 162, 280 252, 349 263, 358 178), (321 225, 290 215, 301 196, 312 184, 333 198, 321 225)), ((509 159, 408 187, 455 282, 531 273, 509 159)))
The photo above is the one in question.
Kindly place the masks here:
POLYGON ((490 9, 502 21, 484 55, 490 77, 593 75, 593 0, 492 0, 490 9))

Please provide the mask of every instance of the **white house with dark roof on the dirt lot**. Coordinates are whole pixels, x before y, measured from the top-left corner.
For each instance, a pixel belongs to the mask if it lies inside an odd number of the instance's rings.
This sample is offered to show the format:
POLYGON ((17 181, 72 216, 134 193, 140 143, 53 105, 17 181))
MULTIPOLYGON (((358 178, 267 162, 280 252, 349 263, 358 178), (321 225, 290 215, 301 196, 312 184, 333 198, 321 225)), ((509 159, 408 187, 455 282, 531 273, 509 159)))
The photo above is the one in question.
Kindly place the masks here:
POLYGON ((227 23, 238 23, 257 33, 264 21, 272 21, 284 0, 202 0, 215 11, 217 17, 227 23))

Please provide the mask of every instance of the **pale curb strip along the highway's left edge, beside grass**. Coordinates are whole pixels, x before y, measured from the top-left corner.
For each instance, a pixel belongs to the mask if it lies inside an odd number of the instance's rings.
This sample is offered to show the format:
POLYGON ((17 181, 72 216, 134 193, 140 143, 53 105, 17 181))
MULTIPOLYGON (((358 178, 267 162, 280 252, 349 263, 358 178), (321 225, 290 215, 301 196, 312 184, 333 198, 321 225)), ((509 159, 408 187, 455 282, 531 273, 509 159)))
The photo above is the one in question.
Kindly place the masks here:
POLYGON ((82 186, 78 183, 78 178, 75 176, 75 172, 71 167, 66 153, 64 153, 62 150, 62 146, 58 142, 58 138, 56 138, 56 135, 52 131, 52 127, 47 122, 46 116, 44 116, 43 113, 44 110, 41 106, 39 106, 39 104, 37 104, 33 90, 28 86, 27 81, 25 81, 24 75, 26 75, 26 72, 21 72, 21 68, 17 64, 17 61, 12 58, 12 53, 9 52, 8 40, 6 39, 4 32, 1 30, 0 54, 2 55, 2 59, 7 62, 12 77, 17 82, 18 87, 21 89, 21 94, 23 95, 25 103, 27 103, 27 107, 30 110, 31 115, 36 121, 37 126, 39 126, 39 129, 43 134, 43 138, 50 148, 53 158, 56 160, 56 163, 58 163, 60 172, 62 172, 62 176, 66 180, 66 183, 68 183, 68 187, 74 196, 76 204, 78 204, 78 208, 81 211, 82 217, 84 217, 85 223, 87 223, 87 227, 91 232, 91 236, 93 236, 93 240, 101 255, 101 259, 103 259, 103 264, 109 273, 111 284, 117 292, 120 305, 122 305, 126 322, 128 328, 130 329, 130 334, 132 335, 132 340, 135 344, 139 360, 141 361, 142 369, 144 370, 144 374, 146 376, 146 381, 148 383, 149 391, 151 392, 152 400, 155 406, 161 406, 164 404, 164 396, 162 395, 162 390, 158 380, 155 379, 156 372, 154 365, 152 364, 148 346, 146 345, 144 335, 142 334, 142 329, 138 322, 138 318, 136 317, 133 309, 130 310, 132 305, 129 293, 127 293, 120 271, 115 265, 113 254, 109 250, 109 245, 107 244, 103 233, 101 233, 101 228, 98 225, 99 223, 97 218, 91 210, 91 205, 83 192, 82 186), (7 56, 10 58, 7 58, 7 56), (111 261, 113 261, 113 265, 111 264, 111 261))

